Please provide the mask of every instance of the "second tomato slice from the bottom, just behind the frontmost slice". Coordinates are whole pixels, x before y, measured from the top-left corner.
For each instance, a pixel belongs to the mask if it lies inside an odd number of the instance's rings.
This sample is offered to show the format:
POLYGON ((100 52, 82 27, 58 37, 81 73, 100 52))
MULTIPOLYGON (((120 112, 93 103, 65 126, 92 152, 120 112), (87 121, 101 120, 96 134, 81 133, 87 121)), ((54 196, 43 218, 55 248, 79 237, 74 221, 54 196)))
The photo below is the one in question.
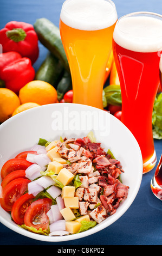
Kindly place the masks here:
POLYGON ((19 225, 24 223, 24 215, 30 204, 33 202, 35 197, 33 194, 23 194, 12 206, 11 216, 12 219, 19 225))

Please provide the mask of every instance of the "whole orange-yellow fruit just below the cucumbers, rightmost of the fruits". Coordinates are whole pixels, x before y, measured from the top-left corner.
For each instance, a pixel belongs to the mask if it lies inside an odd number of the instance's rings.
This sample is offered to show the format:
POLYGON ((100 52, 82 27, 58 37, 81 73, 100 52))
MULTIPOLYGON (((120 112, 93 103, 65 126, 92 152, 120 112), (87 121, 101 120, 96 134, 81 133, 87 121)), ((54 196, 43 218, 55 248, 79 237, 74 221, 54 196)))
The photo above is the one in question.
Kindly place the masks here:
POLYGON ((57 91, 51 84, 35 80, 20 89, 19 98, 22 104, 35 102, 39 105, 46 105, 57 101, 57 91))

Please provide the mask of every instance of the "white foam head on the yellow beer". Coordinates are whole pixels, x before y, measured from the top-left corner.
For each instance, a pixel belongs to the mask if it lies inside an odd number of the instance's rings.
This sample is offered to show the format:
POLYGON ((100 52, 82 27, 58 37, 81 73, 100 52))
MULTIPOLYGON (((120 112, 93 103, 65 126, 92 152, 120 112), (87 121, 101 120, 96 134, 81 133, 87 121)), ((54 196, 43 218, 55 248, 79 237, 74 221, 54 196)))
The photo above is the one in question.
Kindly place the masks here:
POLYGON ((109 0, 67 0, 60 15, 69 27, 85 31, 110 27, 117 18, 115 4, 109 0))

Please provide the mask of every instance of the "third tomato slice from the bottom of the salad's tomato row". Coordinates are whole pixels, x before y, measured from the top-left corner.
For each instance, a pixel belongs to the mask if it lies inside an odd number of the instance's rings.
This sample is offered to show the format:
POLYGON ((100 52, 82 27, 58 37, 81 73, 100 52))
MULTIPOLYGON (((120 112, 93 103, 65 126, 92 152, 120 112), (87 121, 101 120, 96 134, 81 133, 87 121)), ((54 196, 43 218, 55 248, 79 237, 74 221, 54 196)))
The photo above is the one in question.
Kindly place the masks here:
POLYGON ((29 182, 31 180, 19 178, 5 186, 2 190, 2 198, 0 198, 0 204, 5 211, 11 211, 16 200, 28 190, 29 182))

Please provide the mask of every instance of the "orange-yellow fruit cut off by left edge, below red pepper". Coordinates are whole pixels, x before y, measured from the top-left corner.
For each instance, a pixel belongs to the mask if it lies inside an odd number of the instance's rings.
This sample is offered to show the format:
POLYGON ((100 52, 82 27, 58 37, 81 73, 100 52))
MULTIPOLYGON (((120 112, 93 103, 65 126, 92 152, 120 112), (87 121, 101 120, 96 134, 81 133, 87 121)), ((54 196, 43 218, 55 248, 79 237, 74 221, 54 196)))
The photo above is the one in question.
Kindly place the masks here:
POLYGON ((0 88, 0 123, 9 119, 18 106, 20 106, 18 96, 7 88, 0 88))

